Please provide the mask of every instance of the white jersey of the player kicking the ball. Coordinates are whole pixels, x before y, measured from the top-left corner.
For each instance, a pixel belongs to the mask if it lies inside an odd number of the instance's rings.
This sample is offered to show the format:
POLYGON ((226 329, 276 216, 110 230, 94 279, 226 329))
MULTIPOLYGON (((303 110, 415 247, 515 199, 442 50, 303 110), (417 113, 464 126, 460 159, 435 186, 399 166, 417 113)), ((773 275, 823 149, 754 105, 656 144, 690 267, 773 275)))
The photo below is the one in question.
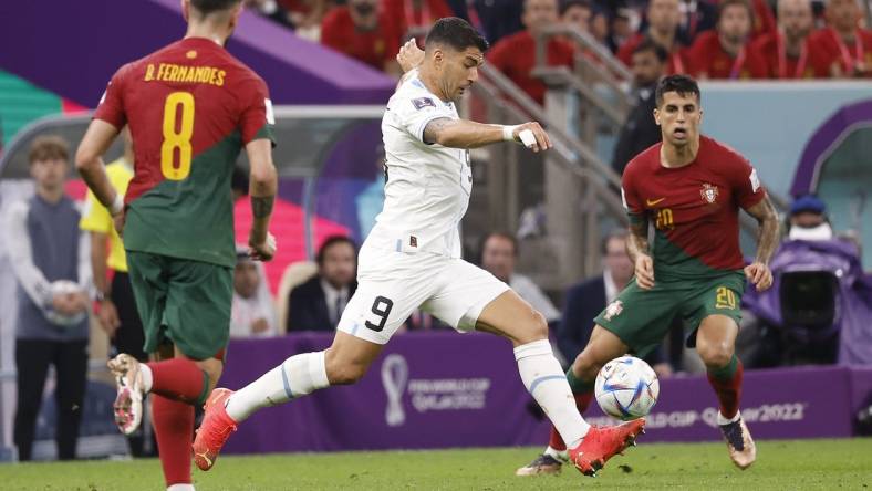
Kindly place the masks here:
POLYGON ((458 119, 411 73, 387 102, 382 118, 385 146, 385 202, 366 239, 401 252, 460 257, 460 219, 469 206, 469 152, 424 143, 424 127, 437 118, 458 119))

